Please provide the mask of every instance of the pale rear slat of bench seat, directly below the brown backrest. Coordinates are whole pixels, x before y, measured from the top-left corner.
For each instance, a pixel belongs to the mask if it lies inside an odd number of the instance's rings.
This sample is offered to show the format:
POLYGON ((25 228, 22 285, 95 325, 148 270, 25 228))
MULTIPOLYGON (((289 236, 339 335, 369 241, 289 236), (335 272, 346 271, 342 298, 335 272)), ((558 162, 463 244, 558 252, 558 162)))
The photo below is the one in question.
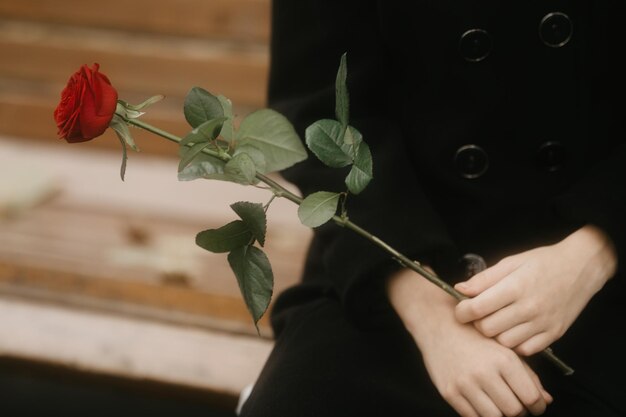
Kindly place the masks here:
MULTIPOLYGON (((45 170, 63 187, 62 194, 57 200, 49 202, 48 207, 54 204, 57 210, 69 208, 68 215, 71 211, 82 210, 107 216, 123 215, 127 220, 162 219, 179 225, 200 223, 209 226, 207 222, 220 222, 224 216, 232 220, 234 213, 228 205, 233 201, 264 202, 269 199, 266 190, 230 182, 179 182, 175 159, 141 153, 129 155, 126 181, 122 182, 118 171, 120 157, 119 152, 94 149, 92 142, 68 145, 57 141, 44 145, 0 138, 0 168, 7 170, 1 178, 12 178, 18 167, 26 171, 35 168, 45 170)), ((274 179, 279 180, 278 177, 274 179)), ((288 183, 282 181, 282 184, 297 192, 288 183)), ((28 216, 32 218, 35 212, 29 212, 28 216)), ((123 218, 118 221, 121 220, 123 218)), ((305 235, 309 233, 299 224, 296 206, 284 199, 274 200, 268 222, 304 231, 305 235)), ((296 236, 298 242, 302 235, 296 236)))

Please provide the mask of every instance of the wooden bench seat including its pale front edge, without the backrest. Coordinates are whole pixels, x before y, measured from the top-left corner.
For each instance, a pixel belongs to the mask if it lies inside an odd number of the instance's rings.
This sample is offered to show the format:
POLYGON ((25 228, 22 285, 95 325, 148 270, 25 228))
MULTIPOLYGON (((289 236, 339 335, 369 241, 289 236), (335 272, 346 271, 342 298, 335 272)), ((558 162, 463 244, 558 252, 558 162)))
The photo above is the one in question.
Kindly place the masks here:
MULTIPOLYGON (((114 140, 107 137, 102 140, 114 140)), ((44 199, 0 201, 0 357, 205 390, 233 403, 272 343, 256 334, 225 256, 194 236, 235 218, 228 205, 265 202, 264 190, 179 183, 176 161, 65 143, 0 138, 0 178, 44 199), (37 185, 35 192, 45 188, 37 185), (8 335, 11 335, 8 337, 8 335), (155 347, 157 347, 155 349, 155 347)), ((1 194, 0 194, 1 195, 1 194)), ((17 198, 20 199, 19 196, 17 198)), ((310 230, 276 200, 265 250, 276 291, 295 283, 310 230)))

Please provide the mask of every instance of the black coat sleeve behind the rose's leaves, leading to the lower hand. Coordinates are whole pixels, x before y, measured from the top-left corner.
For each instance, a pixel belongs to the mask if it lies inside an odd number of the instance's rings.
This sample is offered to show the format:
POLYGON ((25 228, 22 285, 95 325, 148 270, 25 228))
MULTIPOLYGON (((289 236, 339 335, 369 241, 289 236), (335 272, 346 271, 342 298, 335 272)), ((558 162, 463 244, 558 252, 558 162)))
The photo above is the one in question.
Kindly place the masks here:
MULTIPOLYGON (((347 52, 350 124, 363 134, 374 160, 373 181, 348 199, 350 220, 445 278, 458 257, 418 183, 393 114, 394 69, 379 36, 376 8, 373 1, 275 0, 270 106, 290 119, 302 138, 312 122, 334 118, 335 75, 347 52)), ((313 155, 283 172, 305 196, 345 190, 346 174, 313 155)), ((356 315, 384 302, 384 278, 398 267, 386 252, 332 223, 315 230, 312 262, 307 269, 330 279, 356 315)))

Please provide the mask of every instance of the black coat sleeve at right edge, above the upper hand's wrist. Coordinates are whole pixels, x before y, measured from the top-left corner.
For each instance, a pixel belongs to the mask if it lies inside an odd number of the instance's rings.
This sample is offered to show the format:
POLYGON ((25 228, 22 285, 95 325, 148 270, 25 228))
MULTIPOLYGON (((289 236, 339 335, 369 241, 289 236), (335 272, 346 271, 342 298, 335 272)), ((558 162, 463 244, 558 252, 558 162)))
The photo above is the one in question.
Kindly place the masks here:
POLYGON ((599 3, 602 13, 593 22, 601 33, 587 58, 589 95, 593 109, 584 174, 555 200, 557 214, 575 224, 603 229, 615 244, 618 273, 626 270, 626 63, 616 50, 626 36, 615 25, 626 19, 624 2, 599 3))

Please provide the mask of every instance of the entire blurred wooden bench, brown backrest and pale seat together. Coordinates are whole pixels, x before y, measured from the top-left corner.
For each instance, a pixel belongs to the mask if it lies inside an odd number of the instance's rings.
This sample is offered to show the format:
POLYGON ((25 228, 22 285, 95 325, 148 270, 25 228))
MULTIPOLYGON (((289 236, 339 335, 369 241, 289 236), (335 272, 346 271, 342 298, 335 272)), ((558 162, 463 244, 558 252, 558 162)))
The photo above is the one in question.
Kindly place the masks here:
MULTIPOLYGON (((0 356, 188 386, 231 403, 254 380, 271 342, 256 336, 225 257, 193 242, 234 218, 230 203, 269 195, 178 183, 176 147, 136 130, 142 153, 130 155, 121 183, 113 133, 67 145, 52 113, 69 76, 93 62, 126 101, 164 94, 144 120, 179 135, 189 129, 182 102, 192 86, 229 97, 240 117, 263 107, 269 7, 0 1, 0 328, 22 335, 0 341, 0 356), (93 326, 104 327, 85 331, 93 326), (154 326, 178 341, 147 354, 159 340, 154 326), (128 344, 131 334, 137 340, 128 344), (89 340, 76 348, 77 338, 89 340)), ((299 276, 310 231, 287 202, 272 206, 269 222, 281 290, 299 276)), ((261 330, 270 336, 267 320, 261 330)))

